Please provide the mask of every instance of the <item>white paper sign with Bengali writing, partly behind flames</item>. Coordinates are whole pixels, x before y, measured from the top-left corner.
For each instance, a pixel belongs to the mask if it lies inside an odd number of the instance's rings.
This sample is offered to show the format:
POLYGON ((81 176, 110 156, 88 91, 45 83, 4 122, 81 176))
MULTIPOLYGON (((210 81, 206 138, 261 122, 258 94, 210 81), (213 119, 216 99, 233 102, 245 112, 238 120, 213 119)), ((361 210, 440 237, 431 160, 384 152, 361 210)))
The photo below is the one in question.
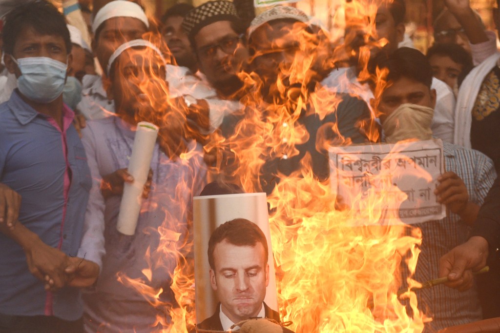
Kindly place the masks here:
POLYGON ((436 201, 437 178, 444 172, 441 140, 331 147, 332 191, 355 210, 366 198, 385 198, 381 224, 440 220, 445 206, 436 201))

